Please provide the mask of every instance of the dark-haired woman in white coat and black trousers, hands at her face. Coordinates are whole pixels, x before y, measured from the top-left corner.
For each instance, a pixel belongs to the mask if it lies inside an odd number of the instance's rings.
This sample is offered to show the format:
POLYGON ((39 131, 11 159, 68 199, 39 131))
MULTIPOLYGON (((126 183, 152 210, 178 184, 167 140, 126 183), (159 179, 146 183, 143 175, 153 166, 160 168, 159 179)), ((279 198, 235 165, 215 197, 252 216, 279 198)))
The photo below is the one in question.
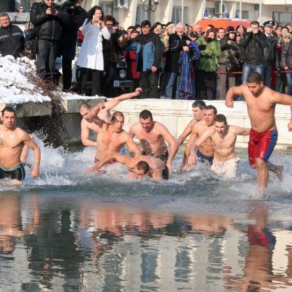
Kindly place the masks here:
POLYGON ((80 67, 78 82, 79 92, 85 94, 86 82, 92 71, 92 96, 101 96, 101 76, 103 74, 103 38, 108 40, 110 32, 103 21, 103 10, 94 6, 87 13, 87 19, 82 25, 85 36, 76 64, 80 67))

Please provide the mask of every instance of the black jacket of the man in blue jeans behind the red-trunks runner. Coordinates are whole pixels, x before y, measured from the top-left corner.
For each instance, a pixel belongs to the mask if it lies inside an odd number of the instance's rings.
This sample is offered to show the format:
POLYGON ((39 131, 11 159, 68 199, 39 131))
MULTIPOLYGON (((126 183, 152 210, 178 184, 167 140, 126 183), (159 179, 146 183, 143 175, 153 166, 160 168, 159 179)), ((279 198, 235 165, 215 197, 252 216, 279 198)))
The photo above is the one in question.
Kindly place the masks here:
POLYGON ((270 45, 268 38, 259 31, 257 34, 246 32, 240 41, 240 47, 244 49, 244 64, 265 65, 265 48, 270 45))

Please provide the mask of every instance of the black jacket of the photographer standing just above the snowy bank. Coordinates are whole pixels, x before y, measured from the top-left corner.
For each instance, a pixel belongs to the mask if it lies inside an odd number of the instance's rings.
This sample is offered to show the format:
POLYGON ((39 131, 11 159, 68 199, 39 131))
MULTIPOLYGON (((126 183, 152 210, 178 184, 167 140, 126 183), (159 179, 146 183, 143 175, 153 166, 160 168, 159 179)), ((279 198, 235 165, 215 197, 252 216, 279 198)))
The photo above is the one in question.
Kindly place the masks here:
POLYGON ((50 8, 45 2, 34 3, 31 6, 30 21, 35 27, 40 27, 39 40, 58 41, 61 35, 61 24, 68 22, 69 15, 61 10, 61 6, 54 5, 59 11, 58 16, 48 15, 45 11, 50 8))

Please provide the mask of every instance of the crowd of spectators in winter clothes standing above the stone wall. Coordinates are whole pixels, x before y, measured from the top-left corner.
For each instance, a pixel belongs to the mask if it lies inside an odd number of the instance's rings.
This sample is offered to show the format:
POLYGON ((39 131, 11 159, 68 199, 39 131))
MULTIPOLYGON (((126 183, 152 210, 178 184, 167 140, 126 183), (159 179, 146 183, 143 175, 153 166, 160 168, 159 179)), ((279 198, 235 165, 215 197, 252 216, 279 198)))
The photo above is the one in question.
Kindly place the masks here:
MULTIPOLYGON (((224 100, 228 88, 247 82, 251 72, 261 74, 264 85, 292 95, 292 27, 267 21, 261 26, 214 27, 203 31, 198 23, 189 24, 144 20, 127 29, 112 15, 104 15, 100 6, 88 12, 82 0, 73 7, 54 0, 34 3, 30 22, 38 38, 37 73, 54 82, 55 59, 62 57, 63 90, 72 89, 72 61, 82 34, 76 61, 80 67, 78 92, 113 96, 117 63, 125 59, 127 78, 134 89, 143 88, 140 98, 224 100), (226 71, 228 57, 240 62, 238 72, 226 71)), ((23 6, 19 7, 23 11, 23 6)), ((13 25, 7 13, 0 14, 0 53, 15 58, 24 54, 24 34, 13 25)))

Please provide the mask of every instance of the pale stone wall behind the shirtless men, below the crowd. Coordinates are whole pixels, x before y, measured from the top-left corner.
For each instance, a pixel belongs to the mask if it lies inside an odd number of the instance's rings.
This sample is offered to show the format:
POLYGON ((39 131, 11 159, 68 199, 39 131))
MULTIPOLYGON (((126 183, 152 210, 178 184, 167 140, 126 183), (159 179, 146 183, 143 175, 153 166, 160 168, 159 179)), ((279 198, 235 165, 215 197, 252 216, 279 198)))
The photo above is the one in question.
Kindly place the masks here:
MULTIPOLYGON (((81 98, 74 100, 64 100, 66 114, 63 115, 63 121, 71 138, 71 142, 80 141, 80 114, 79 105, 87 102, 94 106, 96 103, 105 101, 105 98, 81 98)), ((184 131, 189 121, 193 118, 191 104, 194 101, 169 101, 154 99, 129 99, 119 103, 114 110, 124 113, 124 129, 129 131, 131 125, 139 121, 139 114, 142 110, 150 110, 154 120, 163 123, 170 133, 177 139, 184 131)), ((214 105, 218 113, 226 115, 228 124, 242 127, 250 127, 249 117, 247 115, 247 105, 244 101, 235 101, 234 108, 226 108, 224 101, 206 101, 207 105, 214 105)), ((0 104, 0 110, 5 104, 0 104)), ((17 105, 17 115, 22 117, 34 117, 40 115, 50 115, 50 106, 42 103, 24 103, 17 105)), ((113 112, 113 111, 112 111, 113 112)), ((276 106, 276 123, 279 131, 277 149, 292 150, 292 132, 288 131, 288 123, 291 118, 290 107, 287 105, 276 106)), ((238 136, 237 147, 247 147, 248 136, 238 136)))

